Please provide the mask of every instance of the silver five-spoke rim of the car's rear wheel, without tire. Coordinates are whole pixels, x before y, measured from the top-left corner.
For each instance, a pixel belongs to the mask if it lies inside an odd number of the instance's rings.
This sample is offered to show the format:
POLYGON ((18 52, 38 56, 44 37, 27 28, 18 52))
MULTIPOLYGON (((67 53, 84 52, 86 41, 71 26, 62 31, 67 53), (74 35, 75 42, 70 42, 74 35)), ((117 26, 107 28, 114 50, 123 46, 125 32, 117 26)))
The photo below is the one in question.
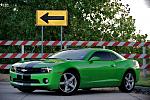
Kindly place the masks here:
POLYGON ((134 86, 134 77, 132 75, 132 73, 128 73, 125 76, 125 87, 127 90, 132 90, 134 86))

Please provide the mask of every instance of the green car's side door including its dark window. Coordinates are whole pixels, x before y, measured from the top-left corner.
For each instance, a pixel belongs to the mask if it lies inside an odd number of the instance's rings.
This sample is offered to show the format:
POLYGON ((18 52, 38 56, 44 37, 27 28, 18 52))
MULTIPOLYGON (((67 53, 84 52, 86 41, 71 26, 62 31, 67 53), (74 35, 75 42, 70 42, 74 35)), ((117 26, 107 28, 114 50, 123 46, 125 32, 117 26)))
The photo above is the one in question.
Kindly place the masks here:
MULTIPOLYGON (((88 65, 89 72, 91 72, 90 85, 92 86, 115 86, 117 84, 116 72, 117 67, 115 61, 118 57, 107 51, 97 51, 92 57, 99 57, 100 60, 91 61, 88 65)), ((89 60, 90 60, 89 59, 89 60)))

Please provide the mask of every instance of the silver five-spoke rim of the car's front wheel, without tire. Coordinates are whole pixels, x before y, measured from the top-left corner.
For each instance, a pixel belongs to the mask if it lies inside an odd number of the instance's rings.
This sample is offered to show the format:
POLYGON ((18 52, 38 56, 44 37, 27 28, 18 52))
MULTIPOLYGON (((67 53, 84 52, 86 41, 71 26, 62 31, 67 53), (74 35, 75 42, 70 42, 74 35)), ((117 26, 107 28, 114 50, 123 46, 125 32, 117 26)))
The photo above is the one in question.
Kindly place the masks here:
POLYGON ((77 86, 77 79, 72 73, 64 73, 60 80, 60 89, 65 93, 72 92, 77 86))

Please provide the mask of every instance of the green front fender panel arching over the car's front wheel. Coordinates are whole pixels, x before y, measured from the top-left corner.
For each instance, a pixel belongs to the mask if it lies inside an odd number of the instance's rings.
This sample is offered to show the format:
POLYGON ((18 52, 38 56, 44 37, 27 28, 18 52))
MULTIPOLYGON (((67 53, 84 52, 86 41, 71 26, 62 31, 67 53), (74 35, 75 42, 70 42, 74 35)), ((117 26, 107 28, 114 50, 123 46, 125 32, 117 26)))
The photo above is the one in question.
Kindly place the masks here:
MULTIPOLYGON (((87 87, 86 84, 88 82, 90 82, 90 78, 89 76, 92 75, 92 73, 90 73, 89 68, 88 68, 88 61, 85 60, 79 60, 79 61, 69 61, 69 62, 65 62, 62 64, 59 64, 57 66, 53 67, 53 73, 57 74, 58 78, 56 79, 55 77, 53 78, 53 80, 55 81, 60 81, 61 75, 68 69, 75 69, 79 72, 79 77, 80 77, 80 87, 87 87), (88 72, 88 73, 86 73, 88 72)), ((59 83, 55 84, 55 87, 59 86, 59 83)))

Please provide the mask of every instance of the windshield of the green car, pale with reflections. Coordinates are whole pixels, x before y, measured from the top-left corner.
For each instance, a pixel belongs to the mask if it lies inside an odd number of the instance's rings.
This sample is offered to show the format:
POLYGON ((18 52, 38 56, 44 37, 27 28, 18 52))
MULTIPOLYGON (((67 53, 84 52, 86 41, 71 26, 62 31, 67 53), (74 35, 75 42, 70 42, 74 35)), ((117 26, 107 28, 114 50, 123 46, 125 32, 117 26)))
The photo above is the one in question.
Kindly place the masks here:
POLYGON ((83 60, 86 56, 86 50, 67 50, 58 52, 49 58, 58 58, 58 59, 65 59, 65 60, 83 60))

